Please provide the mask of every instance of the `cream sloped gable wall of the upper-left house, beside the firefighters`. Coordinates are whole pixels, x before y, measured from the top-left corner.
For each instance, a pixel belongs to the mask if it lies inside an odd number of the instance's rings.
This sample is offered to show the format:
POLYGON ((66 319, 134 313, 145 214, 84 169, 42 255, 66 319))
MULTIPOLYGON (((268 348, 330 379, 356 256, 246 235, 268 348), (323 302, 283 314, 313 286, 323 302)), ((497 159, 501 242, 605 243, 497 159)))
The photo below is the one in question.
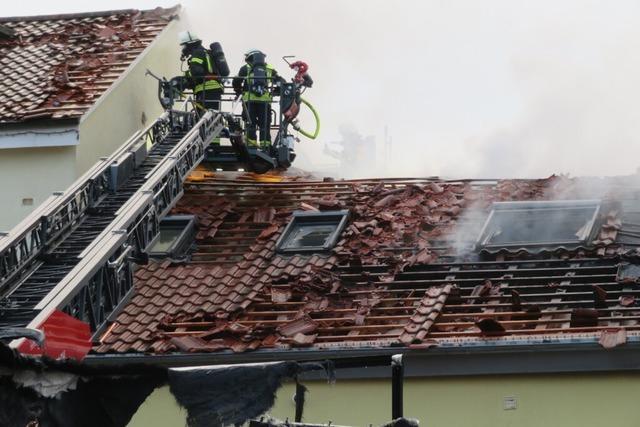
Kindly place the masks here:
POLYGON ((150 69, 158 76, 180 74, 179 20, 172 21, 138 58, 129 72, 103 95, 80 122, 80 145, 76 152, 76 172, 80 176, 100 157, 109 156, 136 130, 151 123, 161 113, 157 81, 145 76, 150 69))

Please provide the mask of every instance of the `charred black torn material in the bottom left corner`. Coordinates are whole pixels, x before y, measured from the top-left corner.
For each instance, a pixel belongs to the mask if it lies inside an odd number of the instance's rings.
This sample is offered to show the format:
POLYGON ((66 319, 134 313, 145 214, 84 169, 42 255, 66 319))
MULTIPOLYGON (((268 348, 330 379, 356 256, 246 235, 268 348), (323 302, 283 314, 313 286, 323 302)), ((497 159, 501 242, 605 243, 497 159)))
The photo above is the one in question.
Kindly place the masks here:
POLYGON ((146 366, 98 369, 24 357, 1 342, 0 372, 0 426, 125 427, 167 377, 146 366))

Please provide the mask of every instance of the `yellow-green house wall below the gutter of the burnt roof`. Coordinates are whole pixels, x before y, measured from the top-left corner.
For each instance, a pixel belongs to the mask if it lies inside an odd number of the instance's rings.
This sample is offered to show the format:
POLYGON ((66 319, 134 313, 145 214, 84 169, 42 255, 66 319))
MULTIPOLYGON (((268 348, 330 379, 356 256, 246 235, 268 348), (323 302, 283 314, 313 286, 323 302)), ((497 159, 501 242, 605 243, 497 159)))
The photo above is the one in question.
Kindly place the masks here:
MULTIPOLYGON (((305 421, 350 426, 374 426, 391 417, 390 380, 307 382, 305 421)), ((294 416, 294 386, 278 393, 272 415, 294 416)), ((640 374, 512 375, 405 381, 405 415, 421 426, 580 426, 631 427, 640 425, 640 374), (505 410, 505 397, 515 397, 517 408, 505 410)), ((184 426, 168 388, 154 392, 129 424, 184 426)))

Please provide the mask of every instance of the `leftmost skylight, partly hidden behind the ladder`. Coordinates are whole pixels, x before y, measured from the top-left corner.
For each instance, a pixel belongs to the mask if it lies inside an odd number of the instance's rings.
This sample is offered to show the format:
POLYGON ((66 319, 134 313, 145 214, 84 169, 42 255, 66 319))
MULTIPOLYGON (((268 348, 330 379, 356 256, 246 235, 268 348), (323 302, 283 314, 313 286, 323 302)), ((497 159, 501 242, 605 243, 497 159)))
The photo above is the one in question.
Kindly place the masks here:
POLYGON ((154 258, 180 258, 186 254, 195 236, 193 215, 172 215, 160 222, 160 235, 149 246, 154 258))

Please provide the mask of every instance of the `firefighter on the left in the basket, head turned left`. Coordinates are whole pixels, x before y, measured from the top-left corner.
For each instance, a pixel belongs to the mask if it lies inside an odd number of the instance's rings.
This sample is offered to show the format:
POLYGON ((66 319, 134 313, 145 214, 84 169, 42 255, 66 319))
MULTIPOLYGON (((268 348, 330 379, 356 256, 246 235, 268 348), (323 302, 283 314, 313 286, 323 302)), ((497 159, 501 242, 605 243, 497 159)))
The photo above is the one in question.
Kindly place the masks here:
MULTIPOLYGON (((187 60, 188 69, 185 77, 188 85, 193 89, 198 111, 204 109, 220 109, 220 99, 222 97, 223 85, 222 77, 229 75, 228 66, 224 61, 221 67, 217 58, 210 51, 202 46, 202 40, 191 31, 182 31, 179 34, 182 55, 180 60, 187 60), (226 73, 224 73, 226 67, 226 73), (222 68, 222 70, 221 70, 222 68)), ((214 45, 220 46, 219 43, 214 45)), ((220 48, 220 52, 222 49, 220 48)), ((224 60, 224 54, 222 54, 224 60)))

